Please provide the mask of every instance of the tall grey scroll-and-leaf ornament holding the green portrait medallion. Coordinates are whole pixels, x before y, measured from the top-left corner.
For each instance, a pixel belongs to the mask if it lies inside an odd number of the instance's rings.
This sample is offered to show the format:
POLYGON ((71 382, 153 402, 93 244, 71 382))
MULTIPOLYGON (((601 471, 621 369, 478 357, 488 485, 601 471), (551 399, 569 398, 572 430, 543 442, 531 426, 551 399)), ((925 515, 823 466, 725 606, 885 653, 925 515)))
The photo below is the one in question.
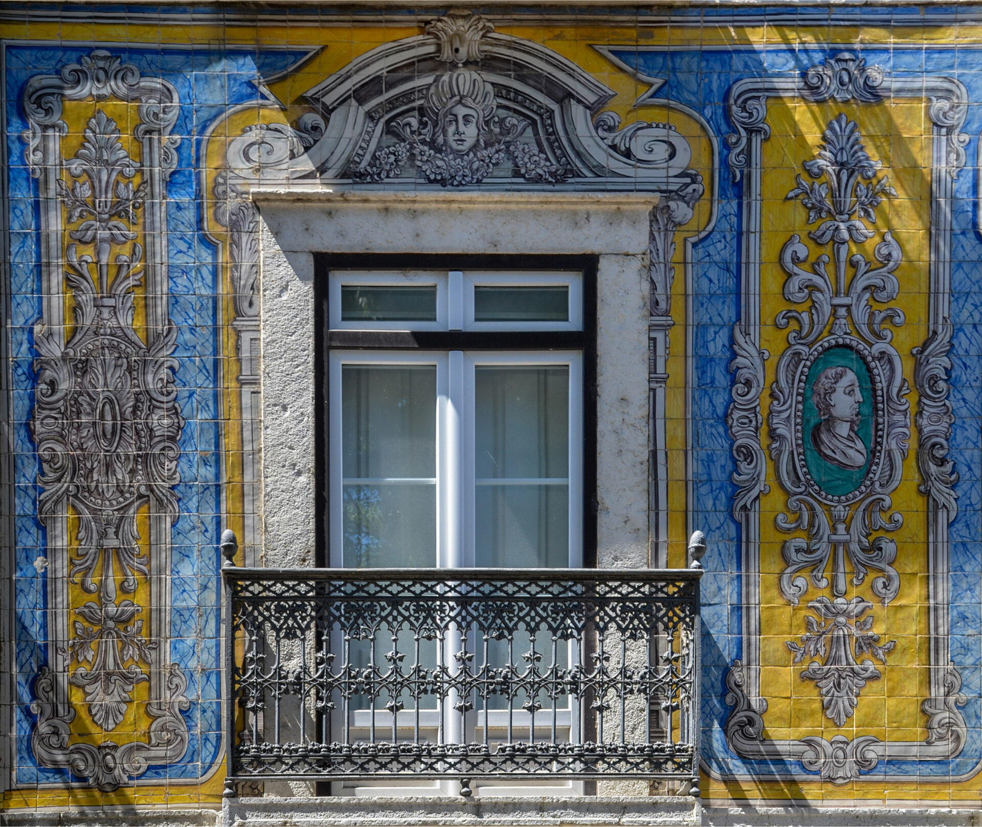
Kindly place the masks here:
POLYGON ((824 657, 824 662, 812 660, 801 677, 818 687, 826 717, 844 726, 860 690, 880 678, 863 655, 871 653, 885 663, 894 646, 880 646, 870 632, 872 616, 862 617, 872 608, 870 602, 860 597, 846 601, 846 559, 853 586, 874 570, 873 594, 884 604, 897 596, 897 543, 874 533, 895 532, 902 525, 902 516, 891 511, 891 494, 900 485, 910 415, 900 353, 891 344, 892 331, 883 327, 899 327, 903 314, 896 307, 870 304, 897 297, 900 245, 887 232, 874 248, 876 265, 858 252, 850 256, 851 244, 874 237, 868 225, 876 221, 877 207, 897 193, 886 176, 877 178, 880 164, 870 158, 858 125, 845 114, 829 123, 823 140, 816 157, 803 164, 812 181, 797 176, 788 198, 800 199, 809 224, 820 222, 809 236, 831 245, 832 258, 822 254, 810 272, 804 270, 810 251, 796 234, 781 251, 788 274, 785 298, 811 306, 778 314, 779 328, 793 323, 795 329, 778 361, 769 423, 775 474, 791 511, 791 516, 777 516, 777 526, 807 533, 784 543, 781 592, 796 605, 809 588, 800 574, 806 570, 814 587, 828 588, 831 564, 835 595, 808 604, 820 620, 806 617, 808 634, 800 645, 788 646, 795 663, 806 654, 824 657))

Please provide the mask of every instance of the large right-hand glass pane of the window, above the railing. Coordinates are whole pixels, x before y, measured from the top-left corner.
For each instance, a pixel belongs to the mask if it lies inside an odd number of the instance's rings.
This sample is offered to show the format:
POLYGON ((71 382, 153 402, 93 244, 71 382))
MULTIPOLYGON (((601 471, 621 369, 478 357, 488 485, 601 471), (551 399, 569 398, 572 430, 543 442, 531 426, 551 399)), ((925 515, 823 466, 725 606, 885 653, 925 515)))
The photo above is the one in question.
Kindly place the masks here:
POLYGON ((569 565, 569 368, 480 367, 474 382, 477 565, 569 565))

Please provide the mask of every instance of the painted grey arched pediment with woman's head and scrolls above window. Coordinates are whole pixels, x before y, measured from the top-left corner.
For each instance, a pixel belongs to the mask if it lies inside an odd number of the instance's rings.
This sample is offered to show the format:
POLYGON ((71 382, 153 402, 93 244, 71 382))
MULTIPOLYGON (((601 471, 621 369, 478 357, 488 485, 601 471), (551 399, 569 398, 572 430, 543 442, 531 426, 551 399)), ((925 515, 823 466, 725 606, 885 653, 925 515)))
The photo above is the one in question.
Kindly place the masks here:
MULTIPOLYGON (((603 107, 615 92, 558 53, 450 14, 306 91, 291 127, 246 129, 229 147, 243 181, 357 188, 702 191, 671 125, 603 107)), ((684 193, 684 194, 683 194, 684 193)))

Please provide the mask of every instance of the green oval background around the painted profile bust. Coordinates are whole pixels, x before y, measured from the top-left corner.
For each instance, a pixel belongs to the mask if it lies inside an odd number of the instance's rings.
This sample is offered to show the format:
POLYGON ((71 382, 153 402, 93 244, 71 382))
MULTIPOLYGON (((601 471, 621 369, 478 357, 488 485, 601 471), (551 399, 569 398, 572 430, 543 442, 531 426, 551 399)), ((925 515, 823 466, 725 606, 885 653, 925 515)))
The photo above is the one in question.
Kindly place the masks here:
POLYGON ((804 462, 811 474, 812 480, 826 493, 833 496, 846 496, 852 493, 859 486, 869 470, 869 463, 873 459, 873 384, 870 381, 869 368, 866 367, 863 358, 851 347, 830 347, 819 356, 808 370, 805 378, 805 401, 803 411, 803 430, 801 440, 804 442, 804 462), (818 415, 818 408, 812 399, 812 386, 815 384, 826 368, 848 368, 856 375, 859 381, 859 392, 862 393, 862 402, 859 404, 859 424, 856 427, 856 434, 866 446, 866 464, 855 471, 840 468, 831 462, 824 460, 814 445, 811 443, 812 429, 822 418, 818 415))

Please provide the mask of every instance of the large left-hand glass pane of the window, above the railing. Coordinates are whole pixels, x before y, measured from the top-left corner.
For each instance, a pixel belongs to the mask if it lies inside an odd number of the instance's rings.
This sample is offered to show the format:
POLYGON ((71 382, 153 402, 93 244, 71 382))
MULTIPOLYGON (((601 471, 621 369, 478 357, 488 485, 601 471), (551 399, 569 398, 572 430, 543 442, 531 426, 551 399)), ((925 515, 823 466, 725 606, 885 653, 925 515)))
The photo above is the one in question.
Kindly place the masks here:
POLYGON ((436 564, 436 367, 342 367, 344 565, 436 564))

